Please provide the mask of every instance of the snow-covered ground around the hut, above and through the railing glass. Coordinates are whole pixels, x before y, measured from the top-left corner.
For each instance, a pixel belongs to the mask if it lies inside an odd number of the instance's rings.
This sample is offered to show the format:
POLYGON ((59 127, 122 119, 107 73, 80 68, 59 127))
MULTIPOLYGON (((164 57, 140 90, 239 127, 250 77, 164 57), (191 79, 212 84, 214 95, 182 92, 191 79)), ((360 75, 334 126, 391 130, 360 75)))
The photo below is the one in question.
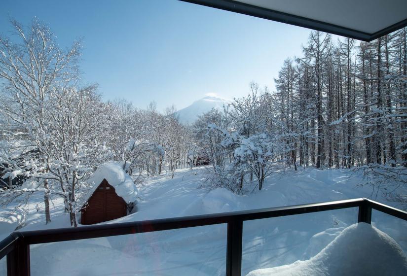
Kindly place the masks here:
MULTIPOLYGON (((137 211, 107 223, 370 197, 371 194, 370 187, 356 187, 362 182, 361 175, 347 170, 301 169, 275 173, 266 179, 262 191, 245 196, 226 189, 206 188, 204 172, 204 168, 184 169, 177 171, 174 179, 167 179, 165 175, 147 178, 145 184, 139 186, 137 211)), ((26 226, 22 230, 69 226, 62 202, 57 200, 51 206, 52 222, 44 225, 42 200, 40 195, 34 196, 27 205, 26 226)), ((382 198, 376 200, 391 205, 382 198)), ((332 247, 330 243, 339 238, 346 227, 357 222, 357 213, 357 208, 351 208, 245 222, 242 275, 298 260, 306 264, 305 260, 315 259, 321 251, 332 247)), ((374 211, 372 221, 373 226, 407 252, 406 221, 374 211)), ((2 228, 0 231, 4 237, 11 230, 2 228)), ((225 258, 226 225, 31 246, 32 275, 224 275, 225 258)))

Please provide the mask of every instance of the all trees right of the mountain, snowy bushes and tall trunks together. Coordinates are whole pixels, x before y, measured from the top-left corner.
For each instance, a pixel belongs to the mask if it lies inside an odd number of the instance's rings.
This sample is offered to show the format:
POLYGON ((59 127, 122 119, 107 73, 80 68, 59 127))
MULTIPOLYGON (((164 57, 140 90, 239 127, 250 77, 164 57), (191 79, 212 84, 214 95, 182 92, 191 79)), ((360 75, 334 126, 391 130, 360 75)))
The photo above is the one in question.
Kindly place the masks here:
POLYGON ((211 181, 242 192, 253 175, 261 189, 276 166, 312 166, 359 168, 373 188, 405 186, 406 31, 372 42, 311 32, 302 56, 284 61, 275 92, 251 83, 247 97, 201 116, 194 133, 211 181))

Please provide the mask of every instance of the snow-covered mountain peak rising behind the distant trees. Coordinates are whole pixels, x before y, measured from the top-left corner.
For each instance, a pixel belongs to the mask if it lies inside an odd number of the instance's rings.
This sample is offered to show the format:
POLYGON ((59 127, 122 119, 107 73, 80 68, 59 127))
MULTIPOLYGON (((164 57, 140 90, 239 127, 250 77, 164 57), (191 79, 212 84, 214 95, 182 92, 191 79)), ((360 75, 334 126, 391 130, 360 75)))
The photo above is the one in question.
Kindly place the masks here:
POLYGON ((213 96, 206 96, 175 113, 179 116, 180 123, 190 125, 196 121, 199 115, 208 112, 212 108, 223 110, 223 104, 227 103, 227 100, 213 96))

